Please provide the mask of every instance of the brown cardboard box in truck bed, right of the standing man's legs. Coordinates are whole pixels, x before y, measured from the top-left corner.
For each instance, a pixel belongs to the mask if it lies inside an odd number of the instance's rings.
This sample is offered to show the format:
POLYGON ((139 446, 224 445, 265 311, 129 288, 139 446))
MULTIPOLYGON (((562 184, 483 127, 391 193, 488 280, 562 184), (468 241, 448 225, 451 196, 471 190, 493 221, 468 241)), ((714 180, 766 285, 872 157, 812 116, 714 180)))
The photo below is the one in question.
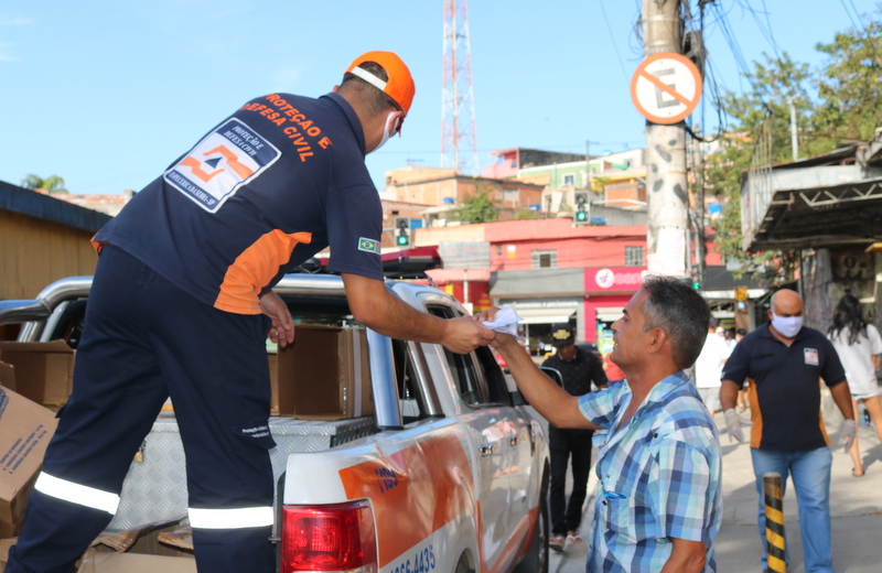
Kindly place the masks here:
POLYGON ((280 415, 341 420, 374 413, 364 328, 298 325, 294 344, 269 354, 280 415))

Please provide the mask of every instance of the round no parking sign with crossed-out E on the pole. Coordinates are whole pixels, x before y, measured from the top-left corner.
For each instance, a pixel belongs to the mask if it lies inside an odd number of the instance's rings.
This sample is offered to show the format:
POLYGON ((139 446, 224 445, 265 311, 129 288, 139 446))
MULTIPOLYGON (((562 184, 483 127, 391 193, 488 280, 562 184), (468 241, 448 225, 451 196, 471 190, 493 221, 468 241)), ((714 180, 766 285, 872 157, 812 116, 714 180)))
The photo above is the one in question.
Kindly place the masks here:
POLYGON ((631 99, 637 111, 653 123, 677 123, 701 99, 701 73, 681 54, 653 54, 637 66, 631 78, 631 99))

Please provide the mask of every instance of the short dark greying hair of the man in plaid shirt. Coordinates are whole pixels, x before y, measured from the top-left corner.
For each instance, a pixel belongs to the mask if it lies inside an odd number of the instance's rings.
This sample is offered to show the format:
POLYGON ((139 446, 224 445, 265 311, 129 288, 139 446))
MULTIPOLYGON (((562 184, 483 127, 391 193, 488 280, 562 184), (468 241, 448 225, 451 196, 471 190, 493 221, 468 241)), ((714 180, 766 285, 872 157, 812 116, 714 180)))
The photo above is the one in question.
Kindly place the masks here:
POLYGON ((646 317, 644 332, 665 331, 677 367, 692 366, 708 336, 710 307, 707 301, 686 282, 660 274, 646 277, 643 290, 648 294, 642 309, 646 317))

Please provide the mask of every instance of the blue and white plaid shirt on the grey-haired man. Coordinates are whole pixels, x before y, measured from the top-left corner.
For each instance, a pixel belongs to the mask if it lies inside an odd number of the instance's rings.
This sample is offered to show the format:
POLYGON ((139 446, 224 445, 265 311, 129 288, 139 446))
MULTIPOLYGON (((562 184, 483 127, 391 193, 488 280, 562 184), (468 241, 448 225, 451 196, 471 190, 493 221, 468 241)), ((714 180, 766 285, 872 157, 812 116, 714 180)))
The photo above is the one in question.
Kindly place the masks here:
POLYGON ((589 573, 660 571, 671 538, 703 541, 704 573, 717 571, 722 490, 717 426, 684 372, 653 387, 616 430, 631 402, 626 382, 579 399, 585 418, 609 429, 600 448, 589 573))

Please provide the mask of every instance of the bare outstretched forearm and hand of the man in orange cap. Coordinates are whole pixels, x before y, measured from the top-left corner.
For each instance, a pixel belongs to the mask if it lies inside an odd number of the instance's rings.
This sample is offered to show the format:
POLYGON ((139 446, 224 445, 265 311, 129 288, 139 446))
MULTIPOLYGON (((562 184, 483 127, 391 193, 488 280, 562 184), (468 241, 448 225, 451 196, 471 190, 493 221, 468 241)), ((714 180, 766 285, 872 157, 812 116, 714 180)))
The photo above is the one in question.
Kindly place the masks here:
POLYGON ((380 280, 343 273, 343 284, 355 320, 386 336, 441 344, 459 354, 493 340, 494 332, 471 318, 439 318, 411 307, 380 280))

